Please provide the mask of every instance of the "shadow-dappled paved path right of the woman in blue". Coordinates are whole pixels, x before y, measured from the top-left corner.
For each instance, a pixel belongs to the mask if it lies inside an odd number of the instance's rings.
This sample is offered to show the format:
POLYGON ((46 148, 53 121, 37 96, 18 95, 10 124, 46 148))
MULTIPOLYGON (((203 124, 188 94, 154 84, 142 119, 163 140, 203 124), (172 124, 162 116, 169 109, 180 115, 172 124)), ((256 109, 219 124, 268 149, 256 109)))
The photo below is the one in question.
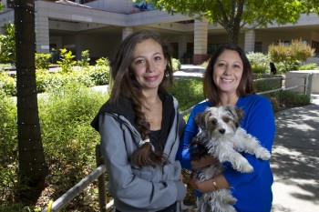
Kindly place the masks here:
POLYGON ((317 100, 313 101, 317 105, 295 107, 275 115, 273 212, 319 211, 317 100))

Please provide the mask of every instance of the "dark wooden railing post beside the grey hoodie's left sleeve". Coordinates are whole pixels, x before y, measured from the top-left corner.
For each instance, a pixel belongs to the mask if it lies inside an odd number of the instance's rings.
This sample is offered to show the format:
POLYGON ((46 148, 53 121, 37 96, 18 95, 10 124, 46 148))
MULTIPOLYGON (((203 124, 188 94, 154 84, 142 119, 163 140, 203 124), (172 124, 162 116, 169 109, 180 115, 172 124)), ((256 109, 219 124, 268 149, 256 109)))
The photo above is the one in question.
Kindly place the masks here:
MULTIPOLYGON (((97 161, 97 167, 103 164, 103 159, 101 155, 101 149, 100 146, 96 146, 96 161, 97 161)), ((103 173, 98 177, 98 206, 99 210, 102 212, 107 211, 107 195, 106 195, 106 179, 105 174, 103 173)))

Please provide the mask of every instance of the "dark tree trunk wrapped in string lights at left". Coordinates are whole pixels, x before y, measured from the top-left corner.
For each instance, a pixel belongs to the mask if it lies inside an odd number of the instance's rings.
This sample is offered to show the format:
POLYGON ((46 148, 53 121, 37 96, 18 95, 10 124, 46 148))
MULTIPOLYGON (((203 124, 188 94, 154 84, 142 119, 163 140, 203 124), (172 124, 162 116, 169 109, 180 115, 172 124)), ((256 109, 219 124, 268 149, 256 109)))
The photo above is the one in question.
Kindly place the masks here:
POLYGON ((36 200, 45 187, 46 160, 36 93, 34 0, 15 0, 15 58, 19 194, 36 200))

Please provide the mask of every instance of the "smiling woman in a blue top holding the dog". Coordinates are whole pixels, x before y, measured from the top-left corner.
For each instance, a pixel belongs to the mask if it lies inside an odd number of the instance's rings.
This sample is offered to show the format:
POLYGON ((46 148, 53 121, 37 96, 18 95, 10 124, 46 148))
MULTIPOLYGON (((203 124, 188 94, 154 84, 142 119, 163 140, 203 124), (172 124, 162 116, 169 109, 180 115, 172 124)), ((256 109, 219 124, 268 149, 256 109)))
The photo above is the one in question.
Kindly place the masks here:
MULTIPOLYGON (((202 156, 200 161, 190 161, 188 148, 199 129, 194 118, 208 106, 241 107, 245 114, 241 126, 271 152, 275 133, 273 108, 266 97, 253 94, 252 66, 240 47, 224 45, 211 57, 204 75, 203 91, 208 99, 194 106, 190 112, 183 143, 180 145, 178 158, 182 167, 197 169, 214 162, 211 156, 202 156)), ((269 212, 273 201, 270 161, 242 154, 252 165, 252 173, 240 173, 225 163, 227 168, 221 175, 203 182, 191 178, 190 185, 201 192, 230 188, 232 196, 237 199, 234 205, 237 211, 269 212)))

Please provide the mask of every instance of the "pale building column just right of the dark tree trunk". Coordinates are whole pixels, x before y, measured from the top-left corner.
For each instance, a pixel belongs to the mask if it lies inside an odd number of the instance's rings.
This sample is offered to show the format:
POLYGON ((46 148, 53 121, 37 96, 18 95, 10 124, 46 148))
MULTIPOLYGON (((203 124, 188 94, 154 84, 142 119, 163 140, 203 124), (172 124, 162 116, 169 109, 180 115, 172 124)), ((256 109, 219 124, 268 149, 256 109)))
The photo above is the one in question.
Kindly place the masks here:
POLYGON ((46 10, 36 6, 36 53, 49 52, 50 38, 48 30, 48 16, 46 10))

